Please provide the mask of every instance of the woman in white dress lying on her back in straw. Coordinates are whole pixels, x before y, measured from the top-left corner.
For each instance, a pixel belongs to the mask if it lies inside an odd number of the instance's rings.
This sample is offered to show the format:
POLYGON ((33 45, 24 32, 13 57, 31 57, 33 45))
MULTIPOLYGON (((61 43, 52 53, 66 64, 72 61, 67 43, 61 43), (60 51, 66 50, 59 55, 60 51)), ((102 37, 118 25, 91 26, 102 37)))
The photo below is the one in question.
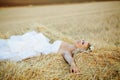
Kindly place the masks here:
POLYGON ((0 39, 0 60, 21 61, 40 54, 60 53, 70 65, 70 72, 78 73, 73 55, 87 51, 90 44, 84 40, 69 44, 60 40, 53 44, 42 33, 35 31, 24 35, 11 36, 9 39, 0 39))

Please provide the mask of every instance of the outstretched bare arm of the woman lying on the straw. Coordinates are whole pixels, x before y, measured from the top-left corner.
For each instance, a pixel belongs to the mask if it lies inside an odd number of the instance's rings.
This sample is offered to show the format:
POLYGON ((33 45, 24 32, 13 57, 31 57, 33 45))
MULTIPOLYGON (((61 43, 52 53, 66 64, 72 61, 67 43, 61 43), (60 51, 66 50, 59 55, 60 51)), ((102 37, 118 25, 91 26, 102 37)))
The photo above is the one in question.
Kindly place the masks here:
POLYGON ((78 70, 78 68, 77 68, 77 66, 75 64, 74 58, 72 57, 71 53, 68 52, 68 51, 64 51, 62 55, 63 55, 64 59, 70 65, 70 72, 79 73, 79 70, 78 70))

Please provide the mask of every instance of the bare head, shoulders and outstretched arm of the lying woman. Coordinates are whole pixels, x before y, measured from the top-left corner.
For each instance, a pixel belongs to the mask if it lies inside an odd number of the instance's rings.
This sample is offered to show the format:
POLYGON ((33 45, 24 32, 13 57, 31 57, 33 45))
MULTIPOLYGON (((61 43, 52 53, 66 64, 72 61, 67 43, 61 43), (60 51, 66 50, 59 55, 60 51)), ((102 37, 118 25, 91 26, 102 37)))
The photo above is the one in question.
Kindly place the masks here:
POLYGON ((78 52, 86 52, 90 48, 90 44, 84 40, 76 41, 74 44, 62 42, 58 53, 61 53, 64 59, 70 65, 70 72, 79 73, 79 70, 74 61, 74 54, 78 52))

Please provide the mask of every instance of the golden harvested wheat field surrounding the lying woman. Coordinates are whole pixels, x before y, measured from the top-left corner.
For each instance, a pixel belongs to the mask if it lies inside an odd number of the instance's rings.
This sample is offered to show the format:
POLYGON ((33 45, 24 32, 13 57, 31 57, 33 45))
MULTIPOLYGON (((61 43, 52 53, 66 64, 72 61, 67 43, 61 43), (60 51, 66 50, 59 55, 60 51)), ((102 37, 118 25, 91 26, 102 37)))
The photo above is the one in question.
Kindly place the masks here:
POLYGON ((85 39, 89 54, 74 56, 80 74, 60 54, 0 61, 0 80, 120 80, 120 1, 0 8, 0 38, 35 30, 73 43, 85 39))

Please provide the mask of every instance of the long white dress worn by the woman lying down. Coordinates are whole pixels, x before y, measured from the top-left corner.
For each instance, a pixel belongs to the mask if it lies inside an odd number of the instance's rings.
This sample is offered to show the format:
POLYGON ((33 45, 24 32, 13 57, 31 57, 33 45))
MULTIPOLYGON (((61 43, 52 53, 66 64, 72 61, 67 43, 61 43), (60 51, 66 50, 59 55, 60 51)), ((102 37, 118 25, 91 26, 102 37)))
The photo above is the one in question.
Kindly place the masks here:
POLYGON ((49 41, 42 33, 35 31, 0 39, 0 60, 21 61, 41 53, 57 53, 62 41, 57 40, 53 44, 49 41))

